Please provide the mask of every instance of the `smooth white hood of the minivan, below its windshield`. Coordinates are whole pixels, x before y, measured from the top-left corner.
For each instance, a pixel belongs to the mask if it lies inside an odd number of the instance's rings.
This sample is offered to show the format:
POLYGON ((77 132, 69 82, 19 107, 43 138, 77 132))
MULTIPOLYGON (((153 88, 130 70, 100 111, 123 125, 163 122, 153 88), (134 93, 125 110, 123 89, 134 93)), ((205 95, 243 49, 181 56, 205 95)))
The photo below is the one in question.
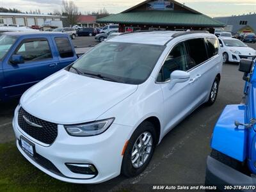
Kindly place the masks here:
POLYGON ((134 84, 104 81, 61 70, 25 92, 20 104, 31 115, 49 122, 81 124, 96 120, 137 88, 134 84))

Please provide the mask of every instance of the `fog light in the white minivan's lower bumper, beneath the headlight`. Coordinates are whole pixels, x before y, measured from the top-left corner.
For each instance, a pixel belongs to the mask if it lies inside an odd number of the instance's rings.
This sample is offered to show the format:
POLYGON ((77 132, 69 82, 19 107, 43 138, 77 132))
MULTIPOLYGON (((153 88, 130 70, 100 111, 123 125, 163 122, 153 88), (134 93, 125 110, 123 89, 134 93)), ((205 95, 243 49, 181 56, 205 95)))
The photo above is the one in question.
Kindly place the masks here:
POLYGON ((73 173, 95 176, 98 174, 98 171, 93 164, 66 163, 66 166, 73 173))

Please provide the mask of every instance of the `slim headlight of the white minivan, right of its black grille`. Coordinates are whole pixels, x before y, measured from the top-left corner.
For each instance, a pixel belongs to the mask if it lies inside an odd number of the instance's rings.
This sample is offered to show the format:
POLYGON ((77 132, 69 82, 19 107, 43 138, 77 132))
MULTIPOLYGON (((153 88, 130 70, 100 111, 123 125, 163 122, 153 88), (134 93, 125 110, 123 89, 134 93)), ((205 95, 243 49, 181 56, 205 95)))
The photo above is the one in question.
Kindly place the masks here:
POLYGON ((86 124, 64 125, 71 136, 95 136, 102 134, 114 122, 115 118, 108 118, 86 124))

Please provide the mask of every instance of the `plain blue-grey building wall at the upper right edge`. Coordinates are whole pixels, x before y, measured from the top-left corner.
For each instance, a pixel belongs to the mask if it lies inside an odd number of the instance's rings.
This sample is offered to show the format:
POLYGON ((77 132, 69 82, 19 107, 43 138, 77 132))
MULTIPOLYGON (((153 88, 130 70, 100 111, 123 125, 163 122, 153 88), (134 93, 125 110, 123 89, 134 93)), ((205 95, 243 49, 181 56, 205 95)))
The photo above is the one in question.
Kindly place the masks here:
POLYGON ((233 26, 233 33, 236 33, 241 28, 250 26, 256 32, 256 14, 239 15, 232 17, 216 17, 216 20, 224 22, 227 26, 233 26))

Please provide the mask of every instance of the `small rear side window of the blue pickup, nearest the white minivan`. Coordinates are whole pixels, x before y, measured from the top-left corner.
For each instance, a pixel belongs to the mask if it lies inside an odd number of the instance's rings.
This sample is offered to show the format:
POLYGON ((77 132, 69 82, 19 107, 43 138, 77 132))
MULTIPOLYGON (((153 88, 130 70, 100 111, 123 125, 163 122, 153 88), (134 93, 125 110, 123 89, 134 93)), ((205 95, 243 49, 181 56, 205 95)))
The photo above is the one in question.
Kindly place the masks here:
POLYGON ((56 37, 55 42, 61 58, 71 58, 74 56, 74 52, 67 37, 56 37))

